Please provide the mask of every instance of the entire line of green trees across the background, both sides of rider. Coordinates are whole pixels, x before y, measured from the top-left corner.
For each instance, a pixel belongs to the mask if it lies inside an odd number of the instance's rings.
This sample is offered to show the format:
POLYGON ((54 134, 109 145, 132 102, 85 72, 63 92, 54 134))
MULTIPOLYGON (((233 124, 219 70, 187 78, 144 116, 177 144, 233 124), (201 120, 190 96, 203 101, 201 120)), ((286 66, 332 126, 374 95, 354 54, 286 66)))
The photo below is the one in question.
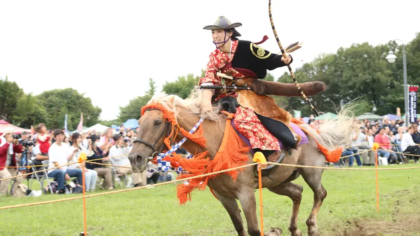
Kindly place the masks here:
MULTIPOLYGON (((406 45, 407 79, 410 85, 420 84, 420 33, 406 45)), ((292 64, 293 66, 293 64, 292 64)), ((372 112, 377 107, 379 115, 396 113, 396 108, 404 107, 402 45, 390 41, 373 46, 369 43, 355 43, 348 48, 340 47, 336 53, 321 54, 310 63, 294 71, 299 83, 322 81, 327 90, 311 97, 317 110, 334 112, 336 107, 356 100, 356 115, 372 112), (385 60, 389 50, 398 57, 395 63, 385 60)), ((190 91, 204 76, 188 74, 179 76, 175 81, 166 82, 162 91, 187 98, 190 91)), ((292 83, 289 73, 275 79, 268 73, 268 81, 292 83)), ((141 107, 146 105, 156 92, 153 79, 149 79, 149 89, 145 95, 129 101, 120 107, 117 120, 99 121, 101 108, 94 107, 89 98, 72 88, 45 91, 38 96, 25 94, 19 86, 6 79, 0 79, 0 119, 28 128, 30 125, 45 123, 47 127, 63 128, 64 115, 68 114, 69 129, 76 129, 80 113, 84 114, 84 124, 98 122, 106 126, 119 125, 127 119, 139 119, 141 107)), ((309 116, 312 110, 300 97, 275 97, 277 104, 293 114, 301 110, 302 116, 309 116)))

